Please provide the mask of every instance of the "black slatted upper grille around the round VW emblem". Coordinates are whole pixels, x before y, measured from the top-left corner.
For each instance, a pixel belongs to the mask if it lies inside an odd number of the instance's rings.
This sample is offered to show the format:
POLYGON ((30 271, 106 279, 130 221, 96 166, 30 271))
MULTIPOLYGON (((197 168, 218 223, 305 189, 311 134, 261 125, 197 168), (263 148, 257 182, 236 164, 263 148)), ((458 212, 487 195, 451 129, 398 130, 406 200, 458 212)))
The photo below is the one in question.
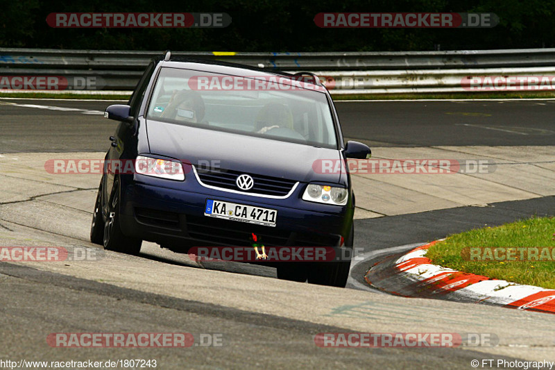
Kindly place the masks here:
POLYGON ((239 175, 246 174, 245 172, 232 171, 230 169, 198 168, 197 174, 200 181, 205 185, 237 190, 246 194, 256 193, 285 196, 291 192, 291 189, 296 184, 296 181, 285 180, 284 178, 248 174, 253 178, 255 185, 250 190, 240 190, 235 180, 237 180, 239 175))

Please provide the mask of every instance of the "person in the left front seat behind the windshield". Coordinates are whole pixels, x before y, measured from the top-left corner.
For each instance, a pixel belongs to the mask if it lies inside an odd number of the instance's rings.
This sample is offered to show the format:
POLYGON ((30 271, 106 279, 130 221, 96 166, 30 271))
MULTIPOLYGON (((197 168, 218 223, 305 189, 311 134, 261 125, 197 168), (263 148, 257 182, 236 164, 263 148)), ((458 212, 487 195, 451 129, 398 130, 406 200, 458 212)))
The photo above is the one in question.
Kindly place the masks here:
POLYGON ((162 117, 196 124, 204 122, 205 106, 202 96, 191 90, 175 90, 162 117))

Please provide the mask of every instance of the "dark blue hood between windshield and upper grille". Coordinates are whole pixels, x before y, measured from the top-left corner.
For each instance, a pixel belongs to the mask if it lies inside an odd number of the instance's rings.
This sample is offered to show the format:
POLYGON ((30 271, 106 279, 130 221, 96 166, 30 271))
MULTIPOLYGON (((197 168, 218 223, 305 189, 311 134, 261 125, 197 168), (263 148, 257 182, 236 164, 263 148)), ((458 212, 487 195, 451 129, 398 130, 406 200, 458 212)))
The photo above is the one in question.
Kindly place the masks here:
MULTIPOLYGON (((340 160, 336 149, 280 142, 205 128, 146 121, 152 154, 212 167, 244 171, 301 182, 339 183, 340 173, 321 174, 313 169, 318 160, 340 160), (208 162, 207 162, 208 161, 208 162), (219 162, 218 162, 219 161, 219 162)), ((316 168, 315 166, 314 168, 316 168)), ((318 171, 321 172, 321 171, 318 171)))

